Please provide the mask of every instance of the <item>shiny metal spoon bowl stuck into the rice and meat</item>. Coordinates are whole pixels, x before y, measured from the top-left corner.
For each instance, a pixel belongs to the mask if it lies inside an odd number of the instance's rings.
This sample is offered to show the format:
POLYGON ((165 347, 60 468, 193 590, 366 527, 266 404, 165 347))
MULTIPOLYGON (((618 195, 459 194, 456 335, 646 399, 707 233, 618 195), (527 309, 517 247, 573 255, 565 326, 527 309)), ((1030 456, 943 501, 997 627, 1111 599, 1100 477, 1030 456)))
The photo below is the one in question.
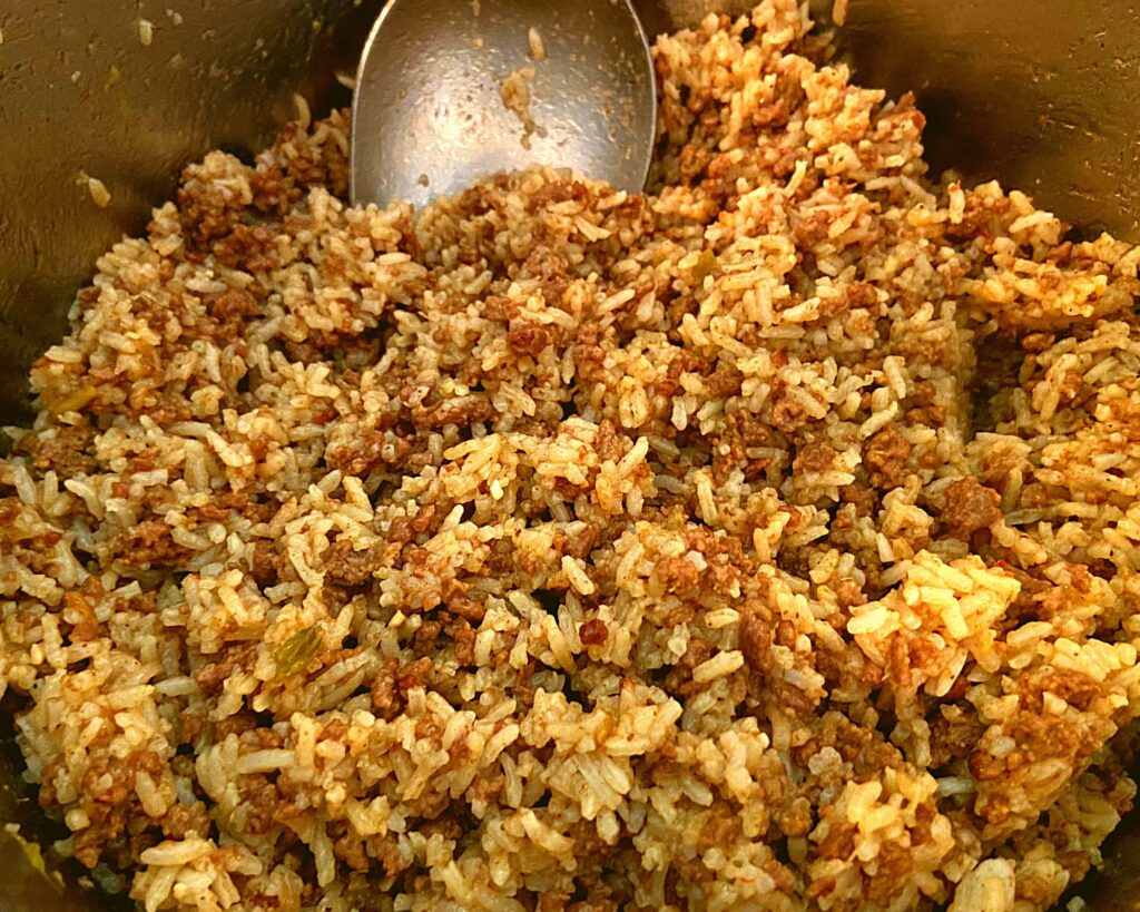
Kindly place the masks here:
POLYGON ((418 206, 532 164, 641 190, 656 108, 630 0, 390 0, 357 72, 352 199, 418 206))

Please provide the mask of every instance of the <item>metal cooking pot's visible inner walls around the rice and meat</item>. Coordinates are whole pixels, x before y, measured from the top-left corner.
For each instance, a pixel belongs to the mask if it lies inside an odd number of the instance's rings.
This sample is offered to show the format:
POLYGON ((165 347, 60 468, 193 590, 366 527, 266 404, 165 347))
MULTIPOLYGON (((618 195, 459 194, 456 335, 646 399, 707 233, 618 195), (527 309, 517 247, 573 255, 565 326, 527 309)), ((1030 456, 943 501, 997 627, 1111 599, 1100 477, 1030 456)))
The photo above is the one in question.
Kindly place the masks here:
MULTIPOLYGON (((210 148, 249 154, 349 96, 383 0, 14 0, 0 8, 0 423, 26 416, 27 367, 65 326, 95 258, 145 226, 210 148), (100 207, 82 176, 111 194, 100 207)), ((644 0, 651 32, 749 0, 644 0)), ((831 0, 813 0, 828 21, 831 0)), ((1000 178, 1088 229, 1140 239, 1140 3, 849 0, 841 50, 864 84, 913 89, 936 170, 1000 178)), ((430 15, 425 13, 425 15, 430 15)), ((2 716, 2 714, 0 714, 2 716)), ((2 722, 2 718, 0 718, 2 722)), ((0 742, 3 725, 0 724, 0 742)), ((39 816, 0 750, 0 821, 39 816)), ((1140 909, 1140 819, 1082 886, 1140 909)), ((95 909, 0 830, 0 910, 95 909)), ((101 907, 106 907, 105 905, 101 907)))

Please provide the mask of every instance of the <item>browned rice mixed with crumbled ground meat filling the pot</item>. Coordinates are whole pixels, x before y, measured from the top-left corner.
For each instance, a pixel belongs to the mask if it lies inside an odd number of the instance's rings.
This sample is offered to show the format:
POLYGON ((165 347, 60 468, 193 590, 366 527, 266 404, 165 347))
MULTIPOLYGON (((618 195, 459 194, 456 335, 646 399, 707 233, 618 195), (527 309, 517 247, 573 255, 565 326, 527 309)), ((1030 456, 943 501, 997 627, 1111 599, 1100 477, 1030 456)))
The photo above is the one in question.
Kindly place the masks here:
POLYGON ((1131 806, 1140 253, 926 178, 793 0, 644 196, 215 152, 0 462, 56 852, 147 910, 1040 910, 1131 806))

